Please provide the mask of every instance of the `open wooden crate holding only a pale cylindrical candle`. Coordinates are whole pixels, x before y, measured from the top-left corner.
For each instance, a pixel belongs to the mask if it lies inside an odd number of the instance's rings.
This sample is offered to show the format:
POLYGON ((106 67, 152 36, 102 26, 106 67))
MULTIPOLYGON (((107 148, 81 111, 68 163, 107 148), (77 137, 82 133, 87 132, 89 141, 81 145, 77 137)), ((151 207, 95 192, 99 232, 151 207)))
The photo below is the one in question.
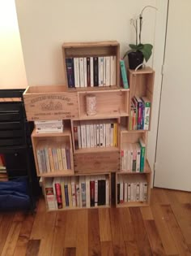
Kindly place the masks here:
POLYGON ((87 115, 86 96, 88 92, 79 92, 79 118, 103 119, 129 115, 129 89, 91 91, 96 95, 96 115, 87 115))

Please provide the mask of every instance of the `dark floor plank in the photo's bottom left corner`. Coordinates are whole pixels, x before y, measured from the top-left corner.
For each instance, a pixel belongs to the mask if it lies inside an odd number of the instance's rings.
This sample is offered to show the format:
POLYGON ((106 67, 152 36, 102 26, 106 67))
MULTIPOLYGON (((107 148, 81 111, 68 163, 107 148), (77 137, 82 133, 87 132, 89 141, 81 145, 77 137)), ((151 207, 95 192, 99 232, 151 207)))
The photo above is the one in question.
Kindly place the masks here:
POLYGON ((2 249, 6 242, 6 236, 8 236, 8 233, 11 228, 11 223, 14 219, 15 213, 3 213, 2 214, 2 221, 0 224, 0 255, 2 254, 2 249))

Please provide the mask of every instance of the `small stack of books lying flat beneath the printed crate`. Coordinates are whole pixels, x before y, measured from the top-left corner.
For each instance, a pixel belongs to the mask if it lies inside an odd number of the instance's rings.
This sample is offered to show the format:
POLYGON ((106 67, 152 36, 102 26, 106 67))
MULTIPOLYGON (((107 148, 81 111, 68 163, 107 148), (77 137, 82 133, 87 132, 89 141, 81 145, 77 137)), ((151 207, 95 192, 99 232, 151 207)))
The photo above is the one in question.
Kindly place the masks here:
POLYGON ((62 120, 40 120, 35 121, 37 133, 63 132, 64 124, 62 120))

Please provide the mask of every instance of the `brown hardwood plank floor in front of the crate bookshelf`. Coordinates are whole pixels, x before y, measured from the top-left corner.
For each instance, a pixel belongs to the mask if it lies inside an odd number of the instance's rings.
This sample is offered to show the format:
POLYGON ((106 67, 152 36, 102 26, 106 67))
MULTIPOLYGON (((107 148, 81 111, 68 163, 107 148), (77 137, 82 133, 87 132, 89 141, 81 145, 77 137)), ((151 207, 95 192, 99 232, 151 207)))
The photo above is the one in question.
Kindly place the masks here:
POLYGON ((3 256, 191 255, 191 193, 152 189, 151 206, 0 213, 3 256))

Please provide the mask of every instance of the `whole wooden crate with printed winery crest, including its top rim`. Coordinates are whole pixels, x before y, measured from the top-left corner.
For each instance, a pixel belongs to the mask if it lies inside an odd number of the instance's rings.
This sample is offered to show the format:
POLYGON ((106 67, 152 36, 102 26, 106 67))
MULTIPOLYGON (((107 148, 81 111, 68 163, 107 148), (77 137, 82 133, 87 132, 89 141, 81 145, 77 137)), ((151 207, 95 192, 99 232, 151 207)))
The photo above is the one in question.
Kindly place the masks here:
POLYGON ((64 85, 28 87, 23 101, 28 121, 79 118, 77 93, 64 85))

